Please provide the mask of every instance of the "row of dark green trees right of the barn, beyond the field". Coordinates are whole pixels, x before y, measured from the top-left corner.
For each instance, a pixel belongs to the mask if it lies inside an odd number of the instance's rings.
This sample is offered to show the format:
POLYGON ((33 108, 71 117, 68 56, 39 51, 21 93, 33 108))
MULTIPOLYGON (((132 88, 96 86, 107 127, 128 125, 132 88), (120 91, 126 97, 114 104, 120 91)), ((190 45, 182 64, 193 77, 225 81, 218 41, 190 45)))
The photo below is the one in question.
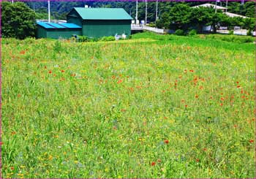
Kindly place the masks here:
POLYGON ((221 11, 215 13, 214 8, 191 8, 188 4, 180 3, 170 7, 170 11, 162 13, 157 20, 158 28, 182 29, 183 31, 195 28, 202 32, 203 26, 212 26, 214 32, 220 26, 227 26, 228 29, 240 26, 252 31, 255 29, 255 18, 230 18, 221 11))

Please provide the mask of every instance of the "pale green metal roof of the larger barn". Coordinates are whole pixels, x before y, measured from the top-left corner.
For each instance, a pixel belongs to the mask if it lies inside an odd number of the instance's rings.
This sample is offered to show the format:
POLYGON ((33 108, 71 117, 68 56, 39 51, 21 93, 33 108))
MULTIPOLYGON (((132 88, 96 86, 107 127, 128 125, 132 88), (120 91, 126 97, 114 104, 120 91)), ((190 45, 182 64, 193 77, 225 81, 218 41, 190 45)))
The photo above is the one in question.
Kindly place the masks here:
POLYGON ((83 20, 132 20, 123 8, 84 8, 75 7, 83 20))

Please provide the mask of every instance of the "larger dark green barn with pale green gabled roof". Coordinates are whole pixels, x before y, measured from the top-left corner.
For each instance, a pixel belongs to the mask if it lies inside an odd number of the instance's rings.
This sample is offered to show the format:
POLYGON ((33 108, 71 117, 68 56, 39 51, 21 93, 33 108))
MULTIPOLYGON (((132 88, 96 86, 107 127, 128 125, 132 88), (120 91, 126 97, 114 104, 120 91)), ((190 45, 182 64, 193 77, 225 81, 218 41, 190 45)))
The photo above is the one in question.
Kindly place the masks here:
POLYGON ((122 8, 75 7, 67 14, 67 23, 81 26, 87 37, 129 36, 132 17, 122 8))

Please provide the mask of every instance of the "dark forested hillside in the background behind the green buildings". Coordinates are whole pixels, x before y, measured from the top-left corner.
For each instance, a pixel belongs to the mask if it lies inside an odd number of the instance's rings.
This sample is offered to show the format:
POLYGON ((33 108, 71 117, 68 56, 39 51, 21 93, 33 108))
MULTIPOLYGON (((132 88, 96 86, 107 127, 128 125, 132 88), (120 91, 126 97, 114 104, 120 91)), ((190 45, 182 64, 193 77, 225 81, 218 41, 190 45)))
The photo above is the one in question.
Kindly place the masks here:
MULTIPOLYGON (((158 16, 161 17, 163 12, 169 12, 170 7, 177 3, 186 3, 189 6, 196 6, 199 4, 209 3, 208 1, 197 1, 197 2, 162 2, 159 1, 158 6, 158 16)), ((211 2, 215 4, 215 2, 211 2)), ((34 9, 37 12, 37 18, 48 18, 47 14, 47 1, 36 1, 36 2, 26 2, 31 9, 34 9)), ((66 19, 67 13, 72 9, 72 7, 84 7, 85 5, 89 5, 90 7, 121 7, 124 8, 132 18, 135 18, 136 13, 136 2, 135 1, 51 1, 50 2, 50 11, 51 16, 54 19, 66 19)), ((225 7, 225 1, 221 3, 218 2, 217 5, 222 5, 225 7)), ((139 1, 138 3, 138 19, 145 19, 145 7, 146 3, 143 1, 139 1)), ((148 2, 148 21, 155 20, 155 12, 156 12, 156 2, 148 2)), ((246 15, 248 17, 255 17, 255 2, 254 1, 246 1, 244 4, 241 2, 228 2, 228 12, 233 12, 238 15, 246 15)))

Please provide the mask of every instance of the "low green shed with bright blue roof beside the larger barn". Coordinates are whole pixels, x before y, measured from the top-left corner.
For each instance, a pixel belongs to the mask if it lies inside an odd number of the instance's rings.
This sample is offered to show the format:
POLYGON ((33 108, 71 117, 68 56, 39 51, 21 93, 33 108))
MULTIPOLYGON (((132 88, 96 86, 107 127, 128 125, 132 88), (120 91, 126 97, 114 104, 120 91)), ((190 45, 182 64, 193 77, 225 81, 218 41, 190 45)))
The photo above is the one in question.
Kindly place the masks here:
POLYGON ((37 22, 37 38, 68 39, 72 35, 81 35, 81 29, 75 23, 37 22))

